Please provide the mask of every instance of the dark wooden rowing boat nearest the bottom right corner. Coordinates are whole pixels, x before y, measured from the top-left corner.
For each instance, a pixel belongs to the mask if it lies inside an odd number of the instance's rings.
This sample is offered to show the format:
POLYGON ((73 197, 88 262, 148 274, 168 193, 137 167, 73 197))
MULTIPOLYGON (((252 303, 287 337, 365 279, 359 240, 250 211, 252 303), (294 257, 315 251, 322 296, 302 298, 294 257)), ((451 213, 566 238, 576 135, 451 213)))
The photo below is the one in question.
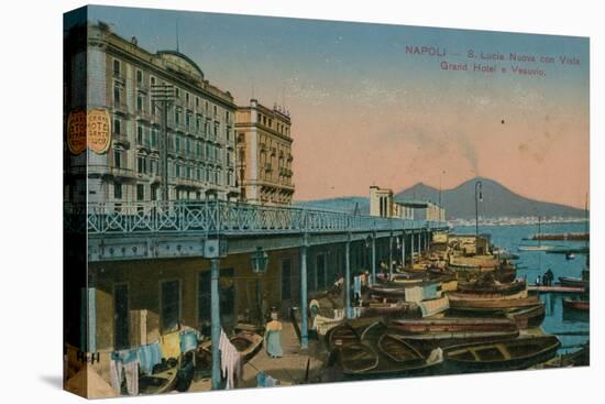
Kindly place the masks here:
POLYGON ((461 371, 527 369, 552 358, 560 346, 554 336, 527 337, 452 347, 444 358, 461 371))

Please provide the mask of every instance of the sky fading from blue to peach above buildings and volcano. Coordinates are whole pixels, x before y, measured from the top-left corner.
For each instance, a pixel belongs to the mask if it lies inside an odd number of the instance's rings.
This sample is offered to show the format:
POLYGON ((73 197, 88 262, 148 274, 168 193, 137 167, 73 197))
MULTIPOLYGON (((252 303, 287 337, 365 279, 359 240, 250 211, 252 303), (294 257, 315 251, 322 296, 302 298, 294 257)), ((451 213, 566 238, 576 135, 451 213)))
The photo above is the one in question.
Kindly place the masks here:
POLYGON ((238 105, 254 96, 289 110, 297 200, 367 196, 371 185, 447 189, 482 176, 530 198, 584 206, 587 39, 110 7, 91 8, 89 20, 150 52, 175 50, 178 32, 179 51, 238 105), (496 70, 473 72, 474 64, 496 70))

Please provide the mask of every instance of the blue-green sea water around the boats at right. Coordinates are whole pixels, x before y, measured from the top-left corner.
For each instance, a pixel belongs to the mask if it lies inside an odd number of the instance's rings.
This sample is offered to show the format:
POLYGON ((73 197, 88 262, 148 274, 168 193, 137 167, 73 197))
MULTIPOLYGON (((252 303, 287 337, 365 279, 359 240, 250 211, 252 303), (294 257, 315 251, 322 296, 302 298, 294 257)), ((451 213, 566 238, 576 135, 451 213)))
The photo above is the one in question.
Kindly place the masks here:
MULTIPOLYGON (((586 223, 542 223, 541 231, 543 234, 586 232, 586 223)), ((538 244, 537 241, 524 240, 538 232, 536 225, 480 226, 479 232, 490 234, 495 247, 505 248, 509 252, 519 255, 519 260, 514 261, 518 266, 517 277, 527 279, 529 284, 536 283, 536 279, 543 275, 549 269, 554 274, 553 283, 556 283, 559 276, 581 277, 582 270, 586 266, 586 255, 581 253, 575 253, 575 259, 568 260, 565 254, 547 253, 546 251, 518 251, 519 245, 538 244)), ((452 233, 474 234, 475 227, 455 227, 452 233)), ((564 240, 541 241, 541 243, 554 248, 583 248, 586 245, 585 241, 564 240)), ((560 353, 576 350, 590 337, 590 315, 563 309, 563 298, 573 298, 574 295, 549 293, 539 296, 546 305, 546 318, 542 323, 543 331, 556 335, 561 340, 560 353)))

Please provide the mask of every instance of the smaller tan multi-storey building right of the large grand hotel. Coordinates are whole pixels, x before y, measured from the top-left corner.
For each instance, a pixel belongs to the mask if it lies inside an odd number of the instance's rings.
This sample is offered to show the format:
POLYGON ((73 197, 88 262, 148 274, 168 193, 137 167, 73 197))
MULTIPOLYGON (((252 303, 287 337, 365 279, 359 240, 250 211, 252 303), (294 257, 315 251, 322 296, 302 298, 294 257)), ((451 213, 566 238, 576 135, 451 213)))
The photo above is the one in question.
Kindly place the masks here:
POLYGON ((255 99, 235 113, 240 197, 250 204, 292 205, 293 139, 288 113, 255 99))

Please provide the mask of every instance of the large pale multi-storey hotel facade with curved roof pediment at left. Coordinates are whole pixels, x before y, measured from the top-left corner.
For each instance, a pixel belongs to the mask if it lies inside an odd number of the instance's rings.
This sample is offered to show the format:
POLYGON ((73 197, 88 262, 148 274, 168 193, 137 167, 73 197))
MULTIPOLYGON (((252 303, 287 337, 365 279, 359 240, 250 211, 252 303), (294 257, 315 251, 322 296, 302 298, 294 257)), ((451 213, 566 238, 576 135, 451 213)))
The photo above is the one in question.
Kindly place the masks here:
MULTIPOLYGON (((162 105, 152 88, 170 86, 167 105, 168 199, 237 199, 235 103, 212 86, 198 65, 175 51, 150 53, 89 25, 86 107, 110 113, 111 145, 88 151, 88 200, 119 208, 162 198, 162 105)), ((76 68, 77 69, 77 68, 76 68)))

